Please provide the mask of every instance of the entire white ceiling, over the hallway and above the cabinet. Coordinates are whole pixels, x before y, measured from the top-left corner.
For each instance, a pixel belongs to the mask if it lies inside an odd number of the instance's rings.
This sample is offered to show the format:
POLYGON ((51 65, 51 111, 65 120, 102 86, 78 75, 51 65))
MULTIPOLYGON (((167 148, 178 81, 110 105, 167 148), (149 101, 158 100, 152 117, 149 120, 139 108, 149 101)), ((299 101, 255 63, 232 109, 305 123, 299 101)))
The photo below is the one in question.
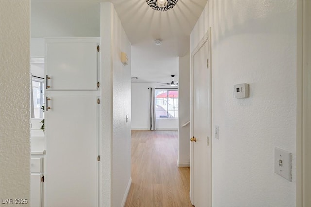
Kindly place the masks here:
MULTIPOLYGON (((100 36, 101 1, 32 1, 32 37, 100 36)), ((166 12, 145 0, 107 0, 114 4, 132 44, 132 82, 178 80, 178 56, 190 50, 190 33, 207 0, 179 0, 166 12), (155 45, 162 39, 162 45, 155 45)))

